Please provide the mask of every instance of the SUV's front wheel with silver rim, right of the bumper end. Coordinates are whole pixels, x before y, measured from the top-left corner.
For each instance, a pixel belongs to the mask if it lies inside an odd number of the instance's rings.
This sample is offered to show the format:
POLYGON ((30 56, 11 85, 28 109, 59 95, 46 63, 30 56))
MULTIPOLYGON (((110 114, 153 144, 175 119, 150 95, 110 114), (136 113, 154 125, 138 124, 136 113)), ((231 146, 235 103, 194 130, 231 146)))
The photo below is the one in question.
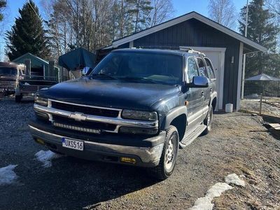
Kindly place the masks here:
POLYGON ((162 150, 160 163, 158 166, 149 169, 151 176, 161 181, 171 176, 176 165, 178 150, 179 134, 176 127, 170 125, 166 130, 165 145, 162 150))

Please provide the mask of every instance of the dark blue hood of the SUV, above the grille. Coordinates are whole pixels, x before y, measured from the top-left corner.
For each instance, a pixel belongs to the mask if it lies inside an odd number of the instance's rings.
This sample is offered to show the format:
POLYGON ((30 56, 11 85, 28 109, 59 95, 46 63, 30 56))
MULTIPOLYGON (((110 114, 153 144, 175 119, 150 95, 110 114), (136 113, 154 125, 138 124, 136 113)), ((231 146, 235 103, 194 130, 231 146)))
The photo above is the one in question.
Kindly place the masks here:
POLYGON ((59 83, 38 94, 50 99, 76 104, 116 109, 151 110, 151 106, 179 92, 179 87, 123 80, 78 78, 59 83))

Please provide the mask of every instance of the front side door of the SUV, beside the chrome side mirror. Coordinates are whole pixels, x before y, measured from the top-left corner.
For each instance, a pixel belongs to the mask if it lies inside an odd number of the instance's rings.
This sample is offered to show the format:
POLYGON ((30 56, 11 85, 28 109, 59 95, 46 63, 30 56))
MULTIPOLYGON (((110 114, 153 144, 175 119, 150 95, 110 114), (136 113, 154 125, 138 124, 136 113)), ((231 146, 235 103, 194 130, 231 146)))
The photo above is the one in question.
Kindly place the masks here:
MULTIPOLYGON (((187 59, 186 83, 192 83, 194 76, 199 76, 197 62, 195 57, 190 56, 187 59)), ((190 87, 186 92, 186 101, 188 101, 188 127, 193 127, 202 121, 203 95, 202 89, 190 87)))

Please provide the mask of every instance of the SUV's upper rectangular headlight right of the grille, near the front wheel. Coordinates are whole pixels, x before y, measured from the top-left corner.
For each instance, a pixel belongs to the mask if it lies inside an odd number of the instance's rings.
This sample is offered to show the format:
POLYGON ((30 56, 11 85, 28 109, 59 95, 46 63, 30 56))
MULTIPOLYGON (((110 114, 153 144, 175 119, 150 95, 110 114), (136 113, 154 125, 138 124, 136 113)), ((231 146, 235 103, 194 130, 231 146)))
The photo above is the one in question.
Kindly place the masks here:
POLYGON ((123 110, 122 117, 125 119, 133 119, 133 120, 149 120, 155 121, 158 120, 158 114, 153 111, 134 111, 134 110, 123 110))

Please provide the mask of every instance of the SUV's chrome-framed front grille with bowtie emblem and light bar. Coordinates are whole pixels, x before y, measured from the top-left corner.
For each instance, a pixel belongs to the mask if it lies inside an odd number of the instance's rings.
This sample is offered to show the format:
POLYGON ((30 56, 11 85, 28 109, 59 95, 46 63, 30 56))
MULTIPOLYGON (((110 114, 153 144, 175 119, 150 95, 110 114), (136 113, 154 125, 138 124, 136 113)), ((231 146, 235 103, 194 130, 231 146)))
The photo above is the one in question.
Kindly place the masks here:
POLYGON ((48 99, 48 106, 34 104, 34 109, 46 113, 52 125, 62 129, 118 133, 122 126, 144 129, 158 128, 158 120, 143 121, 121 118, 121 109, 73 104, 52 99, 48 99))

